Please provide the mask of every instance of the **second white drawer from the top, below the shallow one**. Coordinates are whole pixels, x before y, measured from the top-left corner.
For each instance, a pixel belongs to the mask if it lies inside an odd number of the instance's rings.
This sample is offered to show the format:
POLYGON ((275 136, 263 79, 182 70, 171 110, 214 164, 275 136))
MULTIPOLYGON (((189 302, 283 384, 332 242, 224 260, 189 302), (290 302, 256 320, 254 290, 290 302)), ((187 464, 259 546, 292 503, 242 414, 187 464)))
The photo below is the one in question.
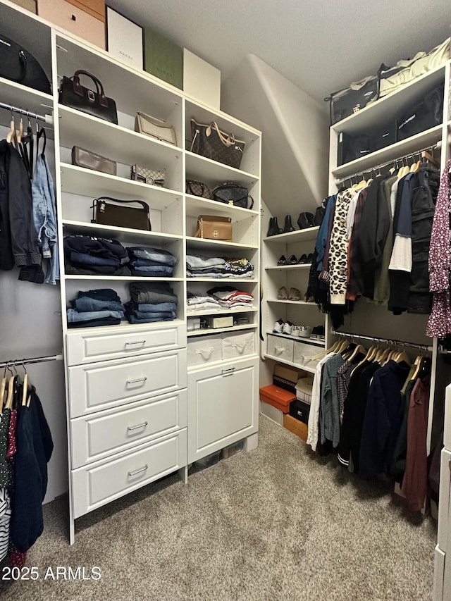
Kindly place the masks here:
POLYGON ((186 350, 69 368, 70 417, 186 388, 186 350))

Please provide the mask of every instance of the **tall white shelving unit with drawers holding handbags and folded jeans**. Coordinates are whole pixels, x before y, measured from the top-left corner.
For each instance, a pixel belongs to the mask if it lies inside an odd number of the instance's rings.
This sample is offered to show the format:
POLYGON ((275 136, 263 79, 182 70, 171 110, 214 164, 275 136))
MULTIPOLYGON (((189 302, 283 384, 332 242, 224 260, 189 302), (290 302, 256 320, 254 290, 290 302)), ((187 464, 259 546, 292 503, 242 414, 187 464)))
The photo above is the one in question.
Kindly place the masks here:
MULTIPOLYGON (((257 445, 261 132, 197 104, 179 89, 125 66, 106 51, 8 1, 0 0, 0 17, 5 35, 23 40, 44 66, 54 92, 42 94, 0 78, 0 101, 48 115, 48 123, 54 125, 73 543, 75 519, 83 514, 173 471, 187 481, 188 463, 238 440, 245 439, 248 449, 257 445), (58 103, 60 78, 79 69, 99 78, 106 96, 116 101, 118 125, 58 103), (137 111, 171 123, 177 143, 135 132, 137 111), (190 118, 200 123, 216 121, 245 140, 241 168, 192 153, 190 118), (75 145, 116 161, 117 175, 73 166, 70 155, 75 145), (165 186, 130 180, 135 163, 164 171, 165 186), (249 189, 254 207, 240 209, 185 194, 185 179, 202 180, 211 189, 235 181, 249 189), (92 223, 92 203, 101 196, 147 202, 152 230, 92 223), (201 214, 230 217, 233 242, 194 237, 201 214), (172 278, 71 275, 64 264, 66 235, 166 249, 178 262, 172 278), (187 253, 246 258, 254 264, 254 272, 248 279, 187 278, 187 253), (178 297, 174 321, 68 328, 66 309, 80 290, 112 288, 126 302, 131 282, 161 281, 168 281, 178 297), (206 310, 200 315, 237 315, 247 318, 247 323, 192 331, 188 339, 187 289, 205 293, 218 285, 249 292, 255 302, 249 309, 206 310), (220 353, 224 345, 221 360, 189 366, 187 347, 208 346, 213 339, 220 343, 220 353), (213 382, 215 395, 208 392, 213 382), (213 399, 220 404, 221 423, 215 415, 218 407, 212 409, 213 399)), ((93 84, 82 75, 82 85, 93 84)))

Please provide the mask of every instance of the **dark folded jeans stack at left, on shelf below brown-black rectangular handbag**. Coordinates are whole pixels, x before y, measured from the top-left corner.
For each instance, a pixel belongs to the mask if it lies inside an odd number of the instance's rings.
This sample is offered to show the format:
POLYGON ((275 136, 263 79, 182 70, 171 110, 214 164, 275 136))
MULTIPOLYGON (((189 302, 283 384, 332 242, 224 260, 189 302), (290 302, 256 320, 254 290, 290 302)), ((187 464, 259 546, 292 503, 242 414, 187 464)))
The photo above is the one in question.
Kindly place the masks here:
POLYGON ((131 275, 121 242, 91 236, 66 236, 64 256, 68 275, 131 275))

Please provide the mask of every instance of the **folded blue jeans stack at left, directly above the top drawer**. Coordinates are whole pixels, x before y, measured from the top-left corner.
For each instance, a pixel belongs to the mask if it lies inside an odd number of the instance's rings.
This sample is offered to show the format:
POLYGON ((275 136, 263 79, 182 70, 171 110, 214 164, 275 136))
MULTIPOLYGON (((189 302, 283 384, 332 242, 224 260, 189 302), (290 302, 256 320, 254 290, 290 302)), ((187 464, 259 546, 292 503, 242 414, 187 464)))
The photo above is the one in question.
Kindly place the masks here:
POLYGON ((115 290, 79 290, 78 297, 70 301, 67 311, 68 328, 95 328, 118 326, 125 316, 125 308, 115 290))

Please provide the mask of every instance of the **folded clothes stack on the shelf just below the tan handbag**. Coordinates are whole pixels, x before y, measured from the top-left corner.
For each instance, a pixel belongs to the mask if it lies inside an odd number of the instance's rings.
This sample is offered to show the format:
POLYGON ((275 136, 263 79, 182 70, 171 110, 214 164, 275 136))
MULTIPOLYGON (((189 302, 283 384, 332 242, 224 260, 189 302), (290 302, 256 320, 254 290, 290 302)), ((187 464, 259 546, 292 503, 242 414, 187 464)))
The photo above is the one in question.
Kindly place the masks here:
POLYGON ((254 277, 254 266, 247 259, 187 254, 186 273, 188 278, 243 278, 250 280, 254 277))

